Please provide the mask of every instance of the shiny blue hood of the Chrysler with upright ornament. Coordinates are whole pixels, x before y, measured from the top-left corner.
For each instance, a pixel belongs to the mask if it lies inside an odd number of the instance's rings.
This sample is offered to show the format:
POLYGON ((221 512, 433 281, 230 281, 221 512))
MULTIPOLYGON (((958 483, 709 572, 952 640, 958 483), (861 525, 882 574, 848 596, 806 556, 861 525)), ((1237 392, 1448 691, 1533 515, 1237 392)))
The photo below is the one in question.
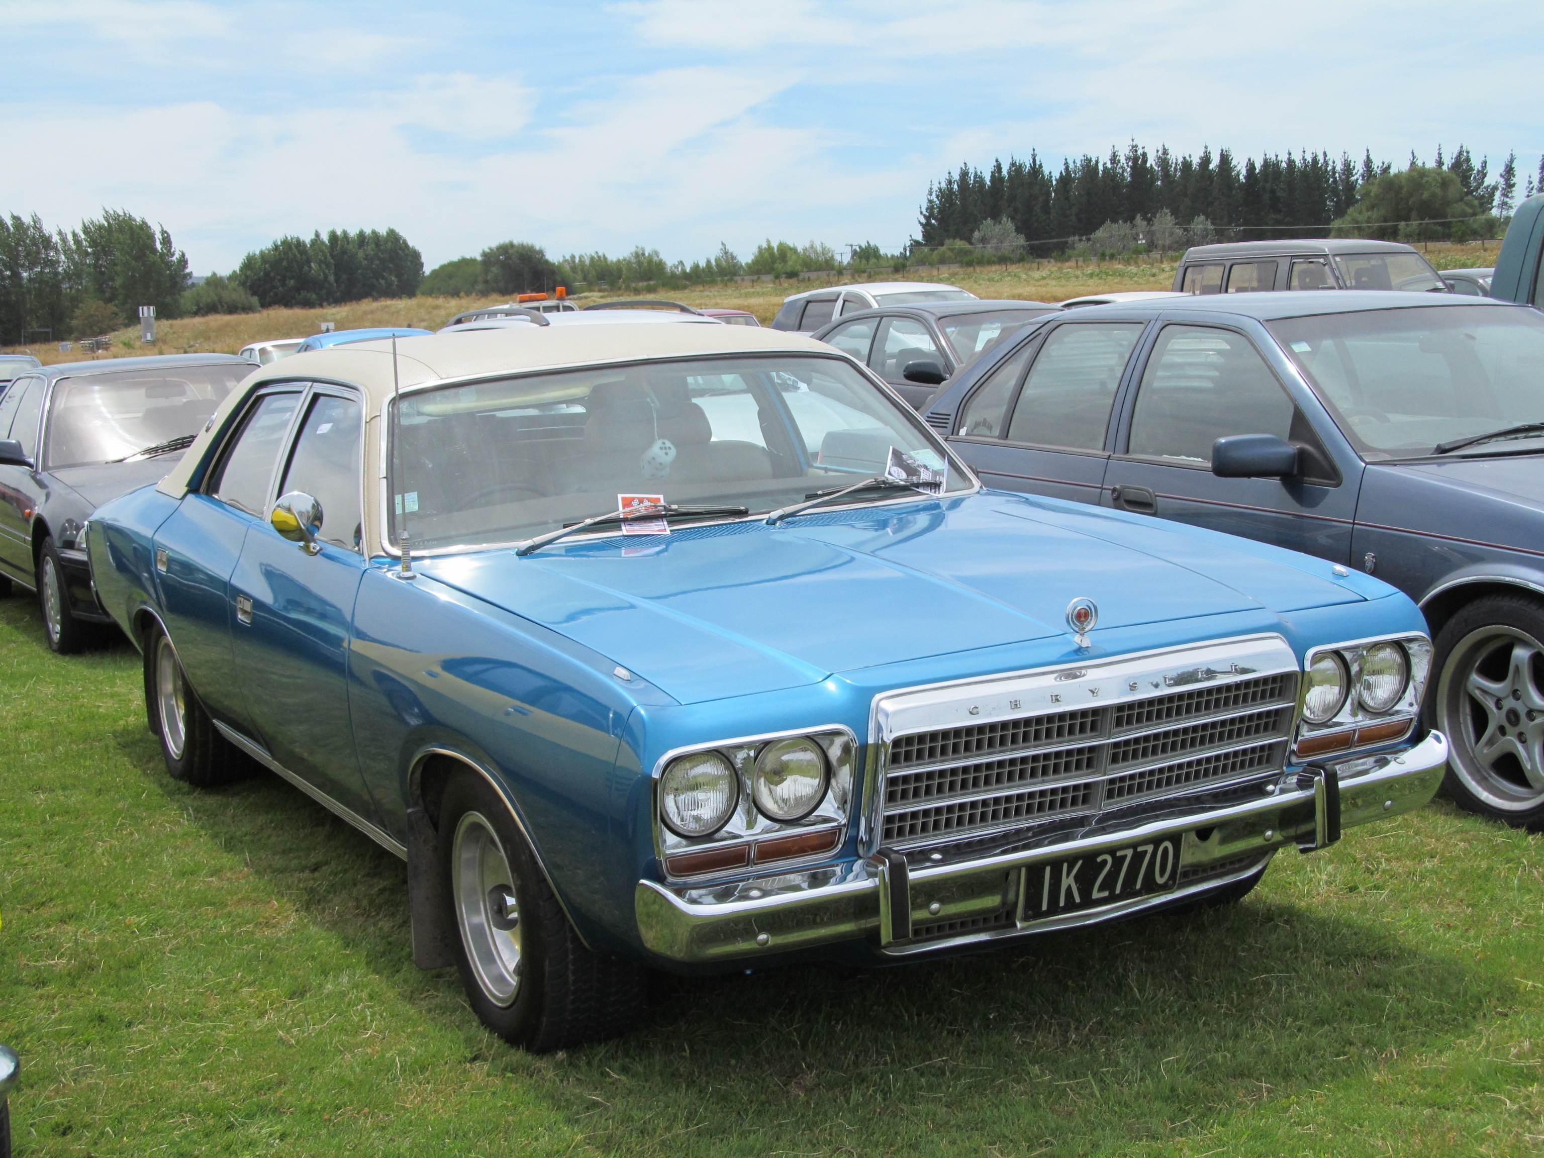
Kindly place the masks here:
POLYGON ((1098 630, 1365 598, 1329 564, 1175 523, 996 493, 446 556, 420 570, 594 648, 681 703, 1098 630))

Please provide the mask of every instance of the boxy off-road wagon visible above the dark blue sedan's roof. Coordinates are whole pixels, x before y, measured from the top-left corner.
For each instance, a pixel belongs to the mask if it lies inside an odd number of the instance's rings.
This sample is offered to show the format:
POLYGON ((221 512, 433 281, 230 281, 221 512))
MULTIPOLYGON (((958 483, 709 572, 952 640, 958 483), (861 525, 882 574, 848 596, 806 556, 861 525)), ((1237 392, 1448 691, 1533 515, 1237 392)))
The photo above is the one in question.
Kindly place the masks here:
POLYGON ((1180 259, 1181 293, 1265 293, 1269 290, 1447 292, 1447 284, 1413 247, 1397 241, 1235 241, 1192 245, 1180 259))

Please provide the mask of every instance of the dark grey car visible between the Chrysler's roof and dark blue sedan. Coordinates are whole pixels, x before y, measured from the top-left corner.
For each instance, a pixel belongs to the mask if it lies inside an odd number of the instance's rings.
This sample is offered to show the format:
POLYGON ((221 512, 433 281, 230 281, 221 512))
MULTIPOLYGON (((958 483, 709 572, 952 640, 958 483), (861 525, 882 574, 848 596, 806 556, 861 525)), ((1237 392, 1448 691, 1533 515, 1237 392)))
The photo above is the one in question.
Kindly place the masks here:
POLYGON ((919 301, 846 315, 811 337, 851 354, 922 409, 962 366, 1055 312, 1044 301, 919 301))

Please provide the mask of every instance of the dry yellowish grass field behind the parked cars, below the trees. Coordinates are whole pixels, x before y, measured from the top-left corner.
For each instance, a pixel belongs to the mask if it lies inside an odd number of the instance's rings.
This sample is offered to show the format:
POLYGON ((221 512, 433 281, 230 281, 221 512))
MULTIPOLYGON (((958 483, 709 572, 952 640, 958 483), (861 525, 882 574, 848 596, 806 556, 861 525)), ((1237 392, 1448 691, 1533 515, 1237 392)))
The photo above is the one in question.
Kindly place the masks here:
MULTIPOLYGON (((1464 269, 1492 266, 1496 261, 1496 242, 1485 245, 1437 245, 1427 258, 1437 269, 1464 269)), ((982 298, 1027 298, 1030 301, 1065 301, 1084 293, 1113 293, 1116 290, 1172 289, 1177 261, 1141 259, 1132 262, 1044 262, 1036 266, 990 266, 977 269, 954 269, 936 273, 900 273, 903 281, 945 281, 968 289, 982 298)), ((889 276, 889 275, 885 275, 889 276)), ((841 278, 838 281, 854 281, 841 278)), ((582 303, 607 301, 622 296, 655 296, 684 301, 689 306, 718 306, 724 309, 750 310, 769 324, 783 298, 806 289, 817 289, 821 281, 772 281, 730 286, 706 286, 681 290, 639 290, 630 293, 584 293, 582 303)), ((838 284, 838 283, 831 283, 838 284)), ((242 346, 269 338, 304 338, 321 330, 321 323, 330 321, 340 330, 363 326, 417 326, 438 329, 454 315, 476 306, 486 306, 506 298, 401 298, 386 301, 355 301, 326 309, 270 309, 261 313, 233 313, 212 318, 179 318, 161 321, 156 326, 156 344, 144 346, 137 329, 119 330, 113 335, 113 349, 100 355, 82 355, 79 350, 63 354, 57 343, 51 346, 11 346, 11 354, 34 354, 45 363, 74 361, 80 357, 124 358, 137 354, 235 354, 242 346)))

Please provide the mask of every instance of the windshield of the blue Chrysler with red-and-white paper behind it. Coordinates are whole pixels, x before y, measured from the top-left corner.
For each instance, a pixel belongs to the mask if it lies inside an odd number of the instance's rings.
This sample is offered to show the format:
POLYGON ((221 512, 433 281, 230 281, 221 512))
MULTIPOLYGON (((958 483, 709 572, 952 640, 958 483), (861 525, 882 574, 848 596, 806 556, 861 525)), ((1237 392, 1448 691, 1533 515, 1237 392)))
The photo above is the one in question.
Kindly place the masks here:
MULTIPOLYGON (((389 472, 415 550, 531 537, 615 511, 622 494, 760 514, 883 474, 891 448, 945 465, 920 418, 838 358, 598 366, 414 391, 400 405, 389 472)), ((946 489, 973 485, 951 462, 946 489)))

